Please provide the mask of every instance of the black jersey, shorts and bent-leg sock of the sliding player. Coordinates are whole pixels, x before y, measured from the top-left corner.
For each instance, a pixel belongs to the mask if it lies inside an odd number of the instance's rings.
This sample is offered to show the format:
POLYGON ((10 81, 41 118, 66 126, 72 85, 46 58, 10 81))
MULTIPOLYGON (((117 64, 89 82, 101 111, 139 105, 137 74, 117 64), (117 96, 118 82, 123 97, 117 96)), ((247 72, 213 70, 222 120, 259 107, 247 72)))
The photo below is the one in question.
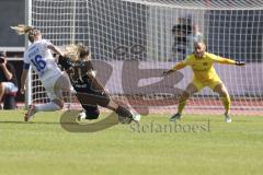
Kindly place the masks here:
POLYGON ((73 62, 69 58, 60 57, 58 63, 68 73, 71 84, 77 92, 76 96, 82 107, 85 109, 88 119, 96 119, 100 115, 98 105, 107 106, 110 96, 105 93, 104 89, 93 83, 91 79, 93 66, 91 61, 73 62))

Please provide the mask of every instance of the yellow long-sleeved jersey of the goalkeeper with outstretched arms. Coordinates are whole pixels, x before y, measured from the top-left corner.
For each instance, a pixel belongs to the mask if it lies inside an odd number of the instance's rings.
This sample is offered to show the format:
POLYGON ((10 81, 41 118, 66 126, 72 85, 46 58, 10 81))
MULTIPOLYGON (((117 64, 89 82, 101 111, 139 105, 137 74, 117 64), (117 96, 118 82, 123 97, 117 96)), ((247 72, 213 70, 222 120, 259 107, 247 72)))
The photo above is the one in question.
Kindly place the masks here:
POLYGON ((210 80, 220 80, 213 66, 214 62, 233 65, 236 61, 205 52, 202 58, 196 58, 194 54, 191 54, 179 65, 181 65, 180 67, 190 66, 194 72, 194 79, 207 82, 210 80))

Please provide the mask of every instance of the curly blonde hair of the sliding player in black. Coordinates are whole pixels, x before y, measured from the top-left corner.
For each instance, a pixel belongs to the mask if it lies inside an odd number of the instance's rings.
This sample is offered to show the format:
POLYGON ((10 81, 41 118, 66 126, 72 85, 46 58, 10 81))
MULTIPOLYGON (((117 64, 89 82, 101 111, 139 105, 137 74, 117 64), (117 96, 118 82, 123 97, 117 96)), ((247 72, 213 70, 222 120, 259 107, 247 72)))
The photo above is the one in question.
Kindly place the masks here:
MULTIPOLYGON (((65 46, 65 55, 72 61, 83 60, 84 56, 89 56, 90 51, 83 44, 72 44, 65 46)), ((90 59, 90 57, 89 57, 90 59)))

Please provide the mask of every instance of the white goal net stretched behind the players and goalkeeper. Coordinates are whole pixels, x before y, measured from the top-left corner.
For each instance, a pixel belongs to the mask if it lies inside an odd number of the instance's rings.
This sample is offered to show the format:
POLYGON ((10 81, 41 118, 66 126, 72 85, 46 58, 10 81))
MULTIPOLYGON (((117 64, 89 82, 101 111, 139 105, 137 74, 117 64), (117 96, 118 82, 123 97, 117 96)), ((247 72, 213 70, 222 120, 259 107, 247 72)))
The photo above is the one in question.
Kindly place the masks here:
MULTIPOLYGON (((116 101, 147 113, 176 110, 192 81, 190 68, 158 77, 204 40, 207 51, 247 62, 215 65, 237 114, 263 114, 263 3, 260 0, 32 0, 32 25, 57 46, 83 43, 98 78, 116 101)), ((47 101, 37 77, 32 103, 47 101)), ((68 103, 75 104, 68 96, 68 103)), ((205 88, 186 113, 222 113, 219 96, 205 88)))

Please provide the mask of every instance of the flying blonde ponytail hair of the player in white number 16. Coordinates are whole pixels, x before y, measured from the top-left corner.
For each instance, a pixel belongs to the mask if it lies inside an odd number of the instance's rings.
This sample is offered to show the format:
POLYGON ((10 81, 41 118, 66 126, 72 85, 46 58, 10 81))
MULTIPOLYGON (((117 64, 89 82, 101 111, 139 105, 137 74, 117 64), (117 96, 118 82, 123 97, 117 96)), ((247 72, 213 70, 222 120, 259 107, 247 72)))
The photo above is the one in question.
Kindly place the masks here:
POLYGON ((36 35, 41 34, 41 31, 34 28, 33 26, 24 25, 24 24, 19 24, 18 26, 11 26, 12 30, 14 30, 19 35, 28 35, 30 42, 34 42, 34 37, 36 35))

